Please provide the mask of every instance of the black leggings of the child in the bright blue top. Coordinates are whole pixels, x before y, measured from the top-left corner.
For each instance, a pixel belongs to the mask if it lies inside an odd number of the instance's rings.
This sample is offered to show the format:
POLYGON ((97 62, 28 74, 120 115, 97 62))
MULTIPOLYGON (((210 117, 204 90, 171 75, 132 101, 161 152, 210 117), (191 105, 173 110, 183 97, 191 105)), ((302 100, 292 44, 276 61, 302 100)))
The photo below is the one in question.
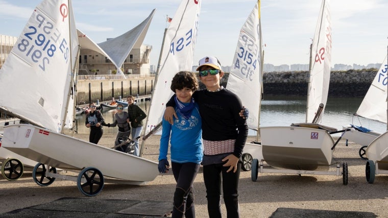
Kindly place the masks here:
POLYGON ((200 164, 171 162, 171 166, 177 182, 172 217, 183 217, 184 214, 186 218, 194 218, 196 217, 196 210, 192 183, 196 179, 200 164))

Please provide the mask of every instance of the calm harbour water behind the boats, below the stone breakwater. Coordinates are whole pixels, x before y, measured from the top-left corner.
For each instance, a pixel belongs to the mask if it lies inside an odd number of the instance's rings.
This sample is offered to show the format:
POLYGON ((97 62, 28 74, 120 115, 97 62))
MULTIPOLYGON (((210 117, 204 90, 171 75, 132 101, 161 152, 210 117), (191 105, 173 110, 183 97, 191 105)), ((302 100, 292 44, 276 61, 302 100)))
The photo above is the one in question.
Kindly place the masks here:
MULTIPOLYGON (((385 132, 386 124, 353 116, 361 101, 362 98, 334 98, 329 96, 322 118, 322 125, 342 130, 343 126, 353 124, 373 131, 385 132)), ((140 102, 139 106, 147 113, 150 102, 140 102)), ((114 109, 103 110, 102 113, 106 123, 113 122, 114 109)), ((260 127, 289 126, 293 123, 305 123, 305 114, 305 96, 264 96, 264 100, 261 101, 260 127)), ((146 120, 144 120, 145 123, 146 120)), ((76 116, 76 125, 79 133, 88 133, 90 131, 85 127, 85 114, 76 116)), ((104 127, 104 132, 116 133, 117 127, 104 127)), ((256 135, 256 131, 250 130, 249 135, 256 135)), ((333 134, 333 136, 340 135, 340 133, 333 134)))

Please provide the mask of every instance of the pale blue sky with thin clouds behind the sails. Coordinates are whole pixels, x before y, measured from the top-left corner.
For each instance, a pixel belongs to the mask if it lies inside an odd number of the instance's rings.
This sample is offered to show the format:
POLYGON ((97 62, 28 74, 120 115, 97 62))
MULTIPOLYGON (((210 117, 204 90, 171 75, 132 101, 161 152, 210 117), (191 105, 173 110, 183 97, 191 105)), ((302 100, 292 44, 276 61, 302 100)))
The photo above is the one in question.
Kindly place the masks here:
MULTIPOLYGON (((19 36, 37 0, 0 0, 0 34, 19 36)), ((76 0, 72 1, 76 26, 93 41, 119 36, 137 26, 151 11, 156 13, 144 44, 153 46, 156 65, 166 15, 173 17, 180 0, 76 0)), ((202 2, 194 62, 206 55, 231 65, 239 30, 256 1, 206 0, 202 2)), ((262 0, 261 25, 264 63, 308 64, 309 45, 316 28, 321 0, 262 0)), ((388 1, 332 0, 331 65, 381 63, 387 53, 388 1)))

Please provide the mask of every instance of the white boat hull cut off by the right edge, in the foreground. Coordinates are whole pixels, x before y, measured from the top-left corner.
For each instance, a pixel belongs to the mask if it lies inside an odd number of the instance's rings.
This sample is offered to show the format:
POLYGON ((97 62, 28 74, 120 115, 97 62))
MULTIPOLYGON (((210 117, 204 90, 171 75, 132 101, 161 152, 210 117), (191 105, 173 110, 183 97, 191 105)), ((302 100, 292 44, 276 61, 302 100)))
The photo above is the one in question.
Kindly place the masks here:
POLYGON ((379 169, 388 170, 388 131, 369 144, 366 154, 368 160, 379 162, 379 169))

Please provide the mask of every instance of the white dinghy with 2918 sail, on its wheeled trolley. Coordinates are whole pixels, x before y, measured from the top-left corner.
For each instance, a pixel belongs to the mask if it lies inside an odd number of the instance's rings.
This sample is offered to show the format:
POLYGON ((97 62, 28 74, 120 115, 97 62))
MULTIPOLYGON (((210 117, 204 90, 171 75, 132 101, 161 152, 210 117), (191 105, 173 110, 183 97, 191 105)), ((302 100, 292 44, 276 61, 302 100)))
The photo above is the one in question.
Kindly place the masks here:
MULTIPOLYGON (((133 33, 136 40, 147 32, 154 12, 133 33)), ((71 1, 43 0, 0 69, 0 106, 30 123, 5 127, 2 147, 38 162, 33 169, 38 185, 73 180, 86 196, 97 195, 104 181, 141 185, 154 180, 158 163, 63 134, 75 117, 79 45, 71 1), (61 175, 56 167, 81 172, 61 175)))

